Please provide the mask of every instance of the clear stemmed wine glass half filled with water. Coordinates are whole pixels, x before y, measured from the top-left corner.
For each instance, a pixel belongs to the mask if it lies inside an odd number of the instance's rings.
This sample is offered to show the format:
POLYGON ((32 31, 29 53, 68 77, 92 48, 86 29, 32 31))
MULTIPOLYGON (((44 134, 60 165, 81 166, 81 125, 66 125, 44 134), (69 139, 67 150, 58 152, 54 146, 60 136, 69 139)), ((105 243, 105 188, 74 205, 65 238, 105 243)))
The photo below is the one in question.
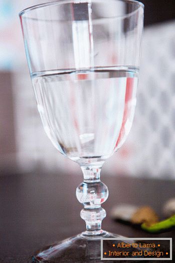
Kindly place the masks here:
POLYGON ((102 262, 101 238, 117 235, 101 229, 108 189, 100 171, 132 125, 143 4, 64 0, 28 8, 20 19, 45 132, 84 176, 76 196, 85 232, 40 250, 33 262, 102 262))

